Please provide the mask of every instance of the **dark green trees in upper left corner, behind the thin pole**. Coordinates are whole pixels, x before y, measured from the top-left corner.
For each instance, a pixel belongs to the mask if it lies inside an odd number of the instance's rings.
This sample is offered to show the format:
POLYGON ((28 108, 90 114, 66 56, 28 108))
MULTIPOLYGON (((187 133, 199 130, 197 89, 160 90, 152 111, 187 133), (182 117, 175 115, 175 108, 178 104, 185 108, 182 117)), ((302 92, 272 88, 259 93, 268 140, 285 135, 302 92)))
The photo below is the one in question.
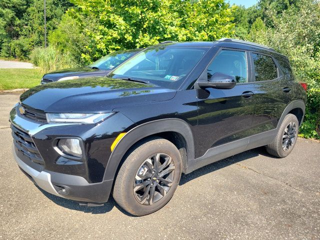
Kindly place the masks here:
MULTIPOLYGON (((46 0, 48 31, 58 25, 68 0, 46 0)), ((44 42, 43 0, 0 1, 0 56, 27 58, 44 42)))

